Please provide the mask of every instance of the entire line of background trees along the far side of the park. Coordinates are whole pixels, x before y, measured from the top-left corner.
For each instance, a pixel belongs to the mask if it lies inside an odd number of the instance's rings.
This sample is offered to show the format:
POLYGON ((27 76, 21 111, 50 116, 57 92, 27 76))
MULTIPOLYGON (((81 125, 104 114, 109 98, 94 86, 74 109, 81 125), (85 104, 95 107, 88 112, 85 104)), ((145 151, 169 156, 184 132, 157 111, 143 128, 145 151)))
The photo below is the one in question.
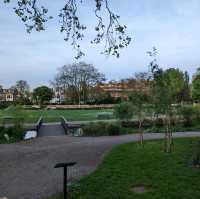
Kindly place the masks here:
MULTIPOLYGON (((125 82, 126 86, 128 85, 132 90, 145 91, 147 95, 152 85, 155 85, 154 96, 156 97, 158 91, 162 90, 162 96, 166 95, 163 99, 168 99, 167 101, 171 104, 200 101, 200 69, 197 69, 190 82, 187 72, 182 72, 177 68, 163 70, 158 67, 155 58, 150 63, 150 68, 150 73, 137 73, 131 78, 121 80, 120 84, 123 85, 125 82)), ((119 102, 119 100, 114 100, 109 92, 99 87, 103 82, 105 82, 104 74, 100 73, 93 65, 80 62, 58 69, 55 79, 51 82, 54 89, 42 86, 31 92, 27 81, 19 80, 11 87, 11 90, 17 96, 16 102, 20 104, 49 102, 53 97, 57 97, 56 93, 62 94, 66 103, 119 102)), ((157 98, 157 101, 161 100, 159 97, 157 98)))

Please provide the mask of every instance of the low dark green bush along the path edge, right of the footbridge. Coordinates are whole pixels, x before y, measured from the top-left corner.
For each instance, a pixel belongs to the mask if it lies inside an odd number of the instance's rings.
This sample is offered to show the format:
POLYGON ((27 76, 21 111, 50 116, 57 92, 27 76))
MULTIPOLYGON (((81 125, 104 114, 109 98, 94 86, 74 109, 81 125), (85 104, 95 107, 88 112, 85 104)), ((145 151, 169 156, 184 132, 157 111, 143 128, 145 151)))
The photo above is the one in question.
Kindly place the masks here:
POLYGON ((120 135, 121 127, 115 123, 93 122, 83 127, 84 136, 120 135))

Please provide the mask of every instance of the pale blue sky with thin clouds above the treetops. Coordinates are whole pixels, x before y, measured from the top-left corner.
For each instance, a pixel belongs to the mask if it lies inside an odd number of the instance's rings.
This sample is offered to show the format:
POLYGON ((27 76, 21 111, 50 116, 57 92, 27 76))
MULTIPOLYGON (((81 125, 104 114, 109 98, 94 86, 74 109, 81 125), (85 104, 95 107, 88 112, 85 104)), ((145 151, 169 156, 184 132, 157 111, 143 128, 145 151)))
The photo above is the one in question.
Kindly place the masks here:
MULTIPOLYGON (((15 0, 16 1, 16 0, 15 0)), ((13 0, 14 2, 14 0, 13 0)), ((19 79, 32 88, 49 85, 57 69, 75 62, 76 51, 63 40, 56 17, 65 0, 38 0, 54 18, 43 32, 26 32, 13 12, 13 4, 0 3, 0 85, 10 87, 19 79)), ((91 45, 97 24, 94 0, 84 0, 79 16, 88 26, 81 43, 86 56, 79 61, 93 64, 109 80, 128 78, 147 71, 147 51, 158 49, 158 63, 163 68, 177 67, 190 75, 200 66, 200 1, 199 0, 109 0, 112 10, 121 16, 132 37, 120 58, 102 55, 104 44, 91 45)))

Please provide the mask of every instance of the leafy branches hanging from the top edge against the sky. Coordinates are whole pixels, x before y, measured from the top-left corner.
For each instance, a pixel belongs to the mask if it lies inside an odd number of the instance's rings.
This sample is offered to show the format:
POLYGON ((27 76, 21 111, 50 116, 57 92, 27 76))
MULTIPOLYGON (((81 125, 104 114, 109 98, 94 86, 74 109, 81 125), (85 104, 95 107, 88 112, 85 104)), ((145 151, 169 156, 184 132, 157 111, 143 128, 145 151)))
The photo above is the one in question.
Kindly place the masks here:
MULTIPOLYGON (((119 21, 120 16, 115 14, 110 6, 109 0, 93 0, 94 16, 97 19, 97 25, 94 27, 96 32, 95 38, 91 41, 93 44, 105 42, 103 53, 111 54, 119 57, 120 49, 128 46, 131 38, 127 36, 125 25, 119 21), (106 14, 105 14, 106 12, 106 14), (108 23, 105 23, 108 22, 108 23)), ((4 0, 4 3, 13 2, 12 0, 4 0)), ((53 17, 48 14, 48 8, 40 6, 40 0, 15 0, 14 11, 16 15, 25 24, 27 32, 32 30, 43 31, 45 24, 53 17)), ((64 1, 64 6, 58 13, 60 21, 60 31, 65 33, 65 41, 70 41, 71 45, 77 50, 75 58, 80 58, 85 53, 80 48, 80 41, 84 39, 84 31, 86 26, 80 21, 78 15, 82 0, 64 1)))

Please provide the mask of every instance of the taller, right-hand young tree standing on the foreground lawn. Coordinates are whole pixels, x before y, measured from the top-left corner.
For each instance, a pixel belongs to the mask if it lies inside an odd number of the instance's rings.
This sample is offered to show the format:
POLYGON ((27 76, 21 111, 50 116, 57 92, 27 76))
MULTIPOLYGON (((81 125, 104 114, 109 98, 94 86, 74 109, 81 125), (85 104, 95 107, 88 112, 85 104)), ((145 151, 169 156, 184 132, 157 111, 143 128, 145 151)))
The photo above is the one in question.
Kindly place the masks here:
POLYGON ((164 150, 169 153, 172 150, 173 144, 171 120, 173 116, 172 103, 174 100, 176 86, 174 87, 171 82, 169 71, 164 71, 157 64, 157 49, 154 47, 153 51, 148 52, 148 54, 153 58, 150 62, 152 104, 154 105, 156 118, 160 116, 166 128, 164 150))

